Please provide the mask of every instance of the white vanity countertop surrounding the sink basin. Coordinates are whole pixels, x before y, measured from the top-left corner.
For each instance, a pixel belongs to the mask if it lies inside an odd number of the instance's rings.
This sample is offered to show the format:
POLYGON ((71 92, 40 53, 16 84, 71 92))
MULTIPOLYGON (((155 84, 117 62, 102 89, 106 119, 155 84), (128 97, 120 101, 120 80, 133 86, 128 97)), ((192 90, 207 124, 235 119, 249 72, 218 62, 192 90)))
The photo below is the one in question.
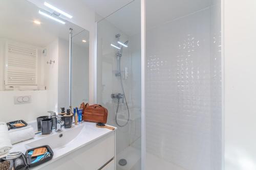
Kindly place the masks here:
MULTIPOLYGON (((84 147, 85 145, 97 140, 98 138, 101 138, 104 135, 114 132, 114 131, 106 129, 106 128, 97 128, 95 123, 83 122, 76 126, 73 125, 72 128, 69 128, 69 129, 62 128, 61 132, 55 132, 53 130, 53 132, 49 135, 41 135, 41 133, 38 133, 32 139, 14 144, 13 148, 9 151, 9 153, 20 151, 25 154, 26 151, 28 150, 28 148, 26 147, 27 143, 37 141, 39 139, 43 139, 43 138, 51 136, 51 135, 65 133, 65 131, 69 131, 72 129, 75 130, 75 128, 81 129, 81 128, 79 128, 80 126, 83 126, 81 132, 79 133, 79 135, 77 137, 75 137, 73 140, 71 140, 66 147, 58 149, 56 152, 54 151, 54 149, 52 149, 54 152, 54 155, 50 161, 42 163, 35 167, 30 167, 29 169, 33 169, 33 170, 39 169, 40 167, 43 167, 55 160, 60 159, 61 157, 65 156, 71 152, 78 150, 81 147, 84 147)), ((60 140, 61 140, 61 138, 60 138, 60 140)), ((40 147, 40 145, 38 145, 38 147, 40 147)), ((1 157, 5 157, 6 155, 1 155, 1 157)))

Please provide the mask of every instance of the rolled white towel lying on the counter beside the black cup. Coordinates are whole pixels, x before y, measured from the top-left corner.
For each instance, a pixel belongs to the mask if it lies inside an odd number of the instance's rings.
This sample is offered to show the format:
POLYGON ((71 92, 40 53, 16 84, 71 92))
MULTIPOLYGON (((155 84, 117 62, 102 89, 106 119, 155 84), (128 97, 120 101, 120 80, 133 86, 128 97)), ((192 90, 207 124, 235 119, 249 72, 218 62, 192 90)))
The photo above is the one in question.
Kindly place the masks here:
POLYGON ((11 143, 18 143, 24 140, 31 139, 35 136, 34 129, 31 126, 14 129, 9 131, 11 143))

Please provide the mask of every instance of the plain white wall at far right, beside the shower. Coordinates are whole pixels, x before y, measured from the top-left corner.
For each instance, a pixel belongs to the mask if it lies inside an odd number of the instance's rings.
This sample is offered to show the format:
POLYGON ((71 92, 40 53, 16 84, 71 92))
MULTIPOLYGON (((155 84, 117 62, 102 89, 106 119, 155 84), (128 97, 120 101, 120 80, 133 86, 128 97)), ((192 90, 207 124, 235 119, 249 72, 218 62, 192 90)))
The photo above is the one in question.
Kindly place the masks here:
POLYGON ((256 169, 255 7, 224 0, 225 170, 256 169))

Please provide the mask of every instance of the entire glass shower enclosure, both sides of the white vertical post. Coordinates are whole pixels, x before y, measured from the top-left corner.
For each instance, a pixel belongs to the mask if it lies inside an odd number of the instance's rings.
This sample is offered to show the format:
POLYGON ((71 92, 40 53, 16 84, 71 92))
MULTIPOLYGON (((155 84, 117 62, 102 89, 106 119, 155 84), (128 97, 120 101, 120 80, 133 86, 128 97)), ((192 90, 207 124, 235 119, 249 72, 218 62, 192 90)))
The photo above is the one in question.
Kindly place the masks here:
POLYGON ((117 169, 220 170, 221 1, 144 2, 144 63, 141 1, 97 25, 97 102, 118 128, 117 169))

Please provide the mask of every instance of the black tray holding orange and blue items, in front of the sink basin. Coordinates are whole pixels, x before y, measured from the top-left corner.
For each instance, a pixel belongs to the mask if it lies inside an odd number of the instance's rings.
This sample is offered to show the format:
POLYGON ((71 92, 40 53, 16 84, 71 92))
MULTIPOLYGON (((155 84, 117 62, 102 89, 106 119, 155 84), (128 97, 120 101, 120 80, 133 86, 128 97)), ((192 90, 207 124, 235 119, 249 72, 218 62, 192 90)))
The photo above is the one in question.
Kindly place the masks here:
POLYGON ((34 167, 34 166, 37 166, 37 165, 39 165, 39 164, 45 163, 45 162, 51 160, 52 157, 53 157, 53 151, 52 151, 52 149, 49 147, 49 145, 43 145, 43 146, 36 147, 36 148, 32 148, 32 149, 29 149, 29 150, 26 151, 26 158, 27 158, 27 163, 28 163, 28 166, 29 166, 29 167, 34 167), (33 151, 33 150, 37 149, 37 148, 47 148, 47 151, 50 152, 51 156, 48 157, 48 158, 45 158, 45 159, 43 159, 43 160, 40 160, 40 161, 38 161, 38 162, 31 163, 31 162, 33 162, 33 161, 36 159, 36 157, 35 157, 35 158, 31 158, 31 155, 29 155, 28 153, 29 153, 30 151, 33 151))

